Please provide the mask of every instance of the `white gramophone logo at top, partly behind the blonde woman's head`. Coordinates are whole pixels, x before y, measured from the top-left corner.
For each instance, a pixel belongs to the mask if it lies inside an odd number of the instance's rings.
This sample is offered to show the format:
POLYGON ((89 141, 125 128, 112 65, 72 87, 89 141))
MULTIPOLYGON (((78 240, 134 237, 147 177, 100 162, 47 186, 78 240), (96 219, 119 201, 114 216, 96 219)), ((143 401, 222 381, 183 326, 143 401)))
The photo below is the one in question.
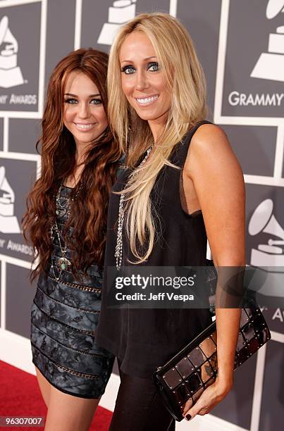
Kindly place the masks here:
POLYGON ((136 0, 116 0, 109 8, 108 23, 104 23, 98 44, 111 45, 116 31, 122 24, 127 23, 135 17, 136 0))

